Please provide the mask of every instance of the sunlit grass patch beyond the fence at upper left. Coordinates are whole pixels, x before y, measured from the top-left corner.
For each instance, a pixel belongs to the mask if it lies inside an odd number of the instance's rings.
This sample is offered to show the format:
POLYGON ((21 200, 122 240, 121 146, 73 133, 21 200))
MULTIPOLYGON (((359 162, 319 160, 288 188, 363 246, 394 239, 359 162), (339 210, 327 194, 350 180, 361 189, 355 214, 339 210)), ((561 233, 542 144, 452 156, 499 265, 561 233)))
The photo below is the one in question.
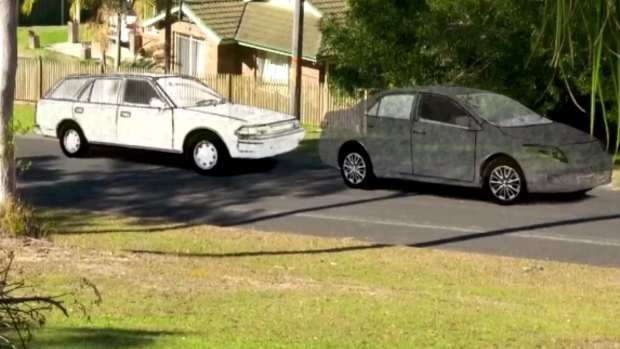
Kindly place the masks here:
POLYGON ((44 27, 19 27, 17 28, 17 46, 20 57, 37 57, 48 60, 62 60, 69 62, 79 62, 79 58, 63 55, 45 49, 46 46, 66 42, 68 40, 68 29, 66 26, 44 26, 44 27), (30 49, 28 45, 28 30, 33 30, 39 35, 41 48, 30 49))

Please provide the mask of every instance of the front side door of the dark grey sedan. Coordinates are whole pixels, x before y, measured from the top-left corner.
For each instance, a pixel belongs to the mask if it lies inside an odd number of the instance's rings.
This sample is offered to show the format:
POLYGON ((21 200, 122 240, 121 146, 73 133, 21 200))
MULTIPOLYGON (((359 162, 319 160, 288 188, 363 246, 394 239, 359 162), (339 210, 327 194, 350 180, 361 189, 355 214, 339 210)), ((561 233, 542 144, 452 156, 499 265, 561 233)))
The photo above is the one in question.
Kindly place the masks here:
POLYGON ((423 93, 412 126, 413 173, 473 181, 476 120, 449 97, 423 93))

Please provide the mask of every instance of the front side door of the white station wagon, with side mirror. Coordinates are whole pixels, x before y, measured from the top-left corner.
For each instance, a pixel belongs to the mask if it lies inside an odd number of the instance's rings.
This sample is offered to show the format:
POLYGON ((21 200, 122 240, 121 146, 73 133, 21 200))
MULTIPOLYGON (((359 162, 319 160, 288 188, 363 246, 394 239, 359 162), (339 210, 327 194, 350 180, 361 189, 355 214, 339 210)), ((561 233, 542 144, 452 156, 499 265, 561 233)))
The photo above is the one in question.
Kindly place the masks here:
POLYGON ((149 79, 125 79, 118 108, 118 143, 172 149, 172 108, 165 103, 149 79))

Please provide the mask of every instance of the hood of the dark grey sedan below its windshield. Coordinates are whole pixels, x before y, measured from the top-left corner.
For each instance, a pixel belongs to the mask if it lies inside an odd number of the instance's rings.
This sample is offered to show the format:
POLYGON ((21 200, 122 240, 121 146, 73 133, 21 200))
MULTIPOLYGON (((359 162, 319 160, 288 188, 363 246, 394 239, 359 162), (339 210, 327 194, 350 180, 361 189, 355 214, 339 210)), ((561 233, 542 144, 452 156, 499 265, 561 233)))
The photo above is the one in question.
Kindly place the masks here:
POLYGON ((521 127, 501 127, 500 130, 510 137, 534 144, 562 145, 596 140, 586 132, 558 122, 521 127))

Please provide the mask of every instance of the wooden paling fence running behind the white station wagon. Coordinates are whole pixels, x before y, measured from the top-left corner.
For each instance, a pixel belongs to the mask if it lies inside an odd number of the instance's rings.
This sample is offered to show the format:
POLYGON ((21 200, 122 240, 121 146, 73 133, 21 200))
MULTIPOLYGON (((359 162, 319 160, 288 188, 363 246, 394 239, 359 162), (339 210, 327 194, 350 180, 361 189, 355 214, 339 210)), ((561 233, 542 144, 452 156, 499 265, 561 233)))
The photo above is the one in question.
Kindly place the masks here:
MULTIPOLYGON (((20 57, 17 64, 15 100, 36 102, 59 79, 67 75, 118 71, 153 72, 141 68, 116 70, 92 63, 68 63, 20 57)), ((289 112, 290 94, 287 84, 265 83, 252 77, 229 74, 197 76, 197 78, 233 103, 289 112)), ((304 81, 301 92, 301 122, 308 126, 319 126, 325 113, 347 108, 357 102, 355 98, 333 95, 326 84, 304 81)))

